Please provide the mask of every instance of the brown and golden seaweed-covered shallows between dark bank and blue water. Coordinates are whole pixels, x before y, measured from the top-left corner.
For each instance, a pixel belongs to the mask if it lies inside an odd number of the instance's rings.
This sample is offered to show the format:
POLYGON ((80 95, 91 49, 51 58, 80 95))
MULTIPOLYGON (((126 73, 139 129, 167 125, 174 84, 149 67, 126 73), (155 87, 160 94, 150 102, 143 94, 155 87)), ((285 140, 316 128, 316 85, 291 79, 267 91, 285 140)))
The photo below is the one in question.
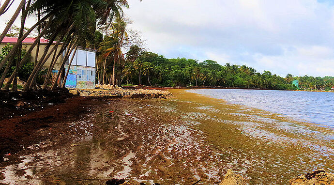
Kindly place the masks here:
POLYGON ((218 184, 234 169, 250 184, 288 184, 307 171, 334 172, 332 128, 169 91, 167 100, 105 100, 66 123, 63 134, 7 156, 0 183, 100 185, 114 177, 218 184))

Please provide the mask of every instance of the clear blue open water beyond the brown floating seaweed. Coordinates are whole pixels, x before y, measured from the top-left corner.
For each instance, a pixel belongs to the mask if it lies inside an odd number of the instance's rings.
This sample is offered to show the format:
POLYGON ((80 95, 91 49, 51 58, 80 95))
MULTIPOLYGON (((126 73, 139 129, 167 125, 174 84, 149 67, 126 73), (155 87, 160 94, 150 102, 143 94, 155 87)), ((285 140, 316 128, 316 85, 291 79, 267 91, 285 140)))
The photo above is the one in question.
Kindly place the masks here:
POLYGON ((188 92, 334 127, 334 93, 239 89, 199 89, 188 92))

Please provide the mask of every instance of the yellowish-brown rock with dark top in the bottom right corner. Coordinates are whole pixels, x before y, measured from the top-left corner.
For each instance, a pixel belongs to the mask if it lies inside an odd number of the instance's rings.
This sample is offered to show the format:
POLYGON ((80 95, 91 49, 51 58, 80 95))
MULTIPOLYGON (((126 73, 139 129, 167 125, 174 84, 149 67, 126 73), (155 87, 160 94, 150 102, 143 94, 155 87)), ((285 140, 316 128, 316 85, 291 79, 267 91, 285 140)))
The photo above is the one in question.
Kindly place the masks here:
POLYGON ((334 174, 325 170, 299 175, 289 181, 290 185, 334 185, 334 174))

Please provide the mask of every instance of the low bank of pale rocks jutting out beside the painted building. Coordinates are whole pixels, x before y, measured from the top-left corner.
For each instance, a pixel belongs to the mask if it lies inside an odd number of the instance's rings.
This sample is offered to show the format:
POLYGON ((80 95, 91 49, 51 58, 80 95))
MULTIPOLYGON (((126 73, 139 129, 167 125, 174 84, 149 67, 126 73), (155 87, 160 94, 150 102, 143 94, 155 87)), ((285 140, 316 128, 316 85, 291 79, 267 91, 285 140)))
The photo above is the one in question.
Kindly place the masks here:
POLYGON ((124 90, 122 88, 116 89, 87 89, 87 90, 79 90, 73 89, 70 90, 70 93, 74 95, 80 95, 84 97, 121 97, 121 98, 160 98, 166 99, 171 97, 173 94, 168 91, 161 90, 144 90, 144 89, 136 89, 136 90, 124 90))

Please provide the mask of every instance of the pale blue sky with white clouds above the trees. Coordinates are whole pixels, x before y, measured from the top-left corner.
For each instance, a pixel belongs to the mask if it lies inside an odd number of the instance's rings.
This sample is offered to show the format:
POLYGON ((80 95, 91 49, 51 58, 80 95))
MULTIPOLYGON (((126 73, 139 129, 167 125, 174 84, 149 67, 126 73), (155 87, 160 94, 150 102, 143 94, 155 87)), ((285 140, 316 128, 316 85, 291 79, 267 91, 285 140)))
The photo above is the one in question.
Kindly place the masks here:
MULTIPOLYGON (((334 0, 128 3, 129 26, 142 32, 149 51, 166 58, 245 64, 282 77, 334 76, 334 0)), ((10 16, 0 17, 0 29, 10 16)))

